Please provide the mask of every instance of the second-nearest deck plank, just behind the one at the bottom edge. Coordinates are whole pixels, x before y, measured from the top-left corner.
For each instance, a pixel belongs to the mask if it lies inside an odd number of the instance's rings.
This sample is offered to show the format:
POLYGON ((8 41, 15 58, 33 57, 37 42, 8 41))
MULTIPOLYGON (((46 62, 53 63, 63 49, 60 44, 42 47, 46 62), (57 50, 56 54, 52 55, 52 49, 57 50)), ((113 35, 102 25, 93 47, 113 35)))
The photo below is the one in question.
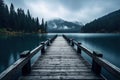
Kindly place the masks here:
POLYGON ((66 75, 66 76, 96 76, 96 74, 94 73, 91 73, 90 70, 69 70, 69 71, 56 71, 55 72, 52 70, 52 71, 37 71, 37 70, 33 70, 31 74, 29 74, 29 76, 58 76, 58 75, 66 75))

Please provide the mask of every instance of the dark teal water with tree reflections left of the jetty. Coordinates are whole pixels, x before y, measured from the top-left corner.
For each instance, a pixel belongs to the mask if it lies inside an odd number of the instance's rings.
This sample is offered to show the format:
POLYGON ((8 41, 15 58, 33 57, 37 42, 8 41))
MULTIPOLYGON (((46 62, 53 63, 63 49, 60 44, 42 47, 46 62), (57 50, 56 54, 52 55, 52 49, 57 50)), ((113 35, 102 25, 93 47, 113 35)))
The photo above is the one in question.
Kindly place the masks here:
POLYGON ((46 34, 0 38, 0 72, 1 67, 5 69, 16 61, 22 51, 32 50, 46 39, 46 34))

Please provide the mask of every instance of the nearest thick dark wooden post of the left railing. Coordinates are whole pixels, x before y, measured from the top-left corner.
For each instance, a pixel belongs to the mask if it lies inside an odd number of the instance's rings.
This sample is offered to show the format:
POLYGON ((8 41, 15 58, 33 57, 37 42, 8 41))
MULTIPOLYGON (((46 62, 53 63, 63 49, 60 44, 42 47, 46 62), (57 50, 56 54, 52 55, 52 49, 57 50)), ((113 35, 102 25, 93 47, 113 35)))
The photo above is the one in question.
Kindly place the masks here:
MULTIPOLYGON (((30 54, 30 51, 24 51, 20 54, 20 58, 25 58, 30 54)), ((29 74, 31 71, 31 62, 30 60, 23 66, 22 68, 22 75, 25 76, 27 74, 29 74)))

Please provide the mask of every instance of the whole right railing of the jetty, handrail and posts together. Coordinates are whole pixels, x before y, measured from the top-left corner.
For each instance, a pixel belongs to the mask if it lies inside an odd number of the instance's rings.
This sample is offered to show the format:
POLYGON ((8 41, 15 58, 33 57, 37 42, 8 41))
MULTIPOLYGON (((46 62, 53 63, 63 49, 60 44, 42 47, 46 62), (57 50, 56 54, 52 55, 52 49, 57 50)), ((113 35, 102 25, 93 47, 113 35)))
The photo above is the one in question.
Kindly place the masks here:
POLYGON ((88 54, 88 56, 90 56, 92 58, 92 70, 93 72, 95 72, 96 74, 100 75, 101 73, 101 68, 105 68, 109 73, 111 73, 112 75, 116 76, 118 79, 120 79, 120 68, 118 68, 117 66, 113 65, 112 63, 110 63, 109 61, 103 59, 103 55, 99 54, 95 51, 91 52, 90 50, 88 50, 87 48, 85 48, 84 46, 81 45, 80 42, 75 41, 74 39, 70 39, 67 36, 63 35, 63 37, 67 40, 67 42, 71 45, 77 46, 77 53, 81 54, 81 51, 84 51, 86 54, 88 54))

